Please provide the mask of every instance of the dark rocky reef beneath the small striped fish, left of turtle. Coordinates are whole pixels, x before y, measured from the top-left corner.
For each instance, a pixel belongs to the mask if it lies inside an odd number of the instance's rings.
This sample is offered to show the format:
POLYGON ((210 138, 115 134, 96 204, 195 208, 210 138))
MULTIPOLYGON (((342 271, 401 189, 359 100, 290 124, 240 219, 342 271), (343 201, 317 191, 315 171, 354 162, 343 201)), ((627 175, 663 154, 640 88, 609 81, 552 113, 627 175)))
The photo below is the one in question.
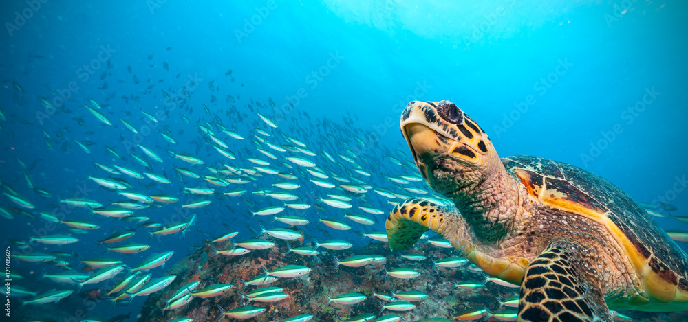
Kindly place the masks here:
MULTIPOLYGON (((193 318, 194 321, 216 321, 222 318, 222 311, 232 310, 242 306, 243 284, 264 273, 262 267, 268 271, 287 265, 303 265, 312 268, 307 275, 293 278, 280 278, 272 284, 262 286, 278 286, 283 288, 289 296, 281 301, 251 302, 251 306, 266 308, 266 311, 253 317, 251 321, 279 321, 299 314, 314 315, 312 321, 338 321, 354 317, 358 314, 371 313, 380 315, 382 303, 373 292, 389 293, 418 290, 427 293, 429 297, 422 301, 413 302, 416 308, 404 312, 385 310, 382 314, 396 314, 406 321, 417 321, 429 317, 452 319, 469 308, 484 306, 489 312, 500 309, 498 299, 507 299, 516 295, 517 288, 501 286, 493 282, 486 282, 484 286, 463 289, 456 288, 454 283, 469 283, 474 281, 481 284, 484 276, 469 269, 469 265, 458 268, 433 268, 431 260, 441 260, 458 256, 454 249, 444 249, 429 243, 418 243, 413 249, 404 251, 427 256, 421 261, 408 260, 397 252, 391 252, 384 242, 372 242, 368 246, 356 249, 332 251, 319 248, 321 253, 316 256, 304 256, 289 252, 286 241, 272 240, 277 245, 271 249, 251 251, 245 255, 226 256, 215 255, 209 242, 204 248, 195 251, 184 260, 172 266, 166 275, 177 275, 172 284, 147 298, 138 321, 162 322, 175 318, 193 318), (367 264, 362 267, 336 266, 336 255, 340 260, 351 255, 382 255, 386 261, 378 264, 367 264), (420 276, 412 279, 400 279, 387 275, 387 270, 394 268, 411 268, 420 272, 420 276), (240 280, 241 279, 241 280, 240 280), (213 284, 233 284, 228 292, 216 297, 194 297, 189 303, 174 310, 166 310, 164 315, 160 306, 180 288, 193 282, 200 281, 197 290, 213 284), (357 292, 369 296, 365 301, 353 305, 330 303, 327 306, 327 295, 334 297, 344 293, 357 292)), ((299 247, 300 241, 289 241, 289 246, 299 247)), ((223 249, 229 244, 215 244, 217 249, 223 249)), ((250 292, 262 286, 249 285, 244 291, 250 292)), ((502 308, 503 310, 504 308, 502 308)), ((510 308, 515 310, 515 308, 510 308)), ((685 312, 647 313, 623 311, 632 317, 632 321, 686 321, 685 312)), ((230 319, 229 317, 227 317, 230 319)), ((484 319, 484 318, 483 318, 484 319)), ((497 321, 496 317, 489 317, 490 321, 497 321)), ((624 321, 624 320, 620 320, 624 321)))

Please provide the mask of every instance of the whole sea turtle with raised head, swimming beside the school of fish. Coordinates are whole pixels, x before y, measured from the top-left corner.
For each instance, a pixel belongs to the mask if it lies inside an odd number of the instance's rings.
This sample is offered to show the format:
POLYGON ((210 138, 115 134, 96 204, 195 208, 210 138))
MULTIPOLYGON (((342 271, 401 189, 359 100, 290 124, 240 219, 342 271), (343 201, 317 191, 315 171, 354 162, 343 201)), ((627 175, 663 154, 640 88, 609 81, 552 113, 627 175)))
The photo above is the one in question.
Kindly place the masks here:
POLYGON ((519 321, 688 310, 687 255, 616 185, 541 157, 499 159, 449 101, 411 102, 400 125, 423 178, 451 203, 411 198, 394 207, 385 222, 391 248, 440 233, 489 275, 521 286, 519 321))

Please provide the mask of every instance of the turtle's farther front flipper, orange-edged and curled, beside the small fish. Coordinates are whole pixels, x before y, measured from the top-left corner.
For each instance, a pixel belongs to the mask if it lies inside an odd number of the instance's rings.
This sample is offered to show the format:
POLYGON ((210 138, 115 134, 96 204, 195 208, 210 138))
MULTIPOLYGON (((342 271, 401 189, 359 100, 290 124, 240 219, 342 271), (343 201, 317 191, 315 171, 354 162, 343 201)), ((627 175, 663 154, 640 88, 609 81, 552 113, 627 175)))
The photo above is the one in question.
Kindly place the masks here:
POLYGON ((442 234, 449 216, 461 218, 453 205, 440 205, 424 198, 411 198, 392 209, 385 229, 390 249, 406 249, 429 229, 442 234))

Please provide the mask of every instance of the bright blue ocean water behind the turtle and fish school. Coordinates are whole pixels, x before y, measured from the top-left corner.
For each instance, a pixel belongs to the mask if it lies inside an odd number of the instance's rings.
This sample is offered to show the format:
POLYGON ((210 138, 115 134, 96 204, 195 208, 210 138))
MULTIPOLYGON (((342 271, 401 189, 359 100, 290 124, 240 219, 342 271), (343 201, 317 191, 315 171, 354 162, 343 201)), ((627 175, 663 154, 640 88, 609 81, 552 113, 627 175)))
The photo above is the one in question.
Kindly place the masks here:
MULTIPOLYGON (((252 194, 283 181, 274 175, 217 187, 180 176, 175 166, 207 176, 213 174, 206 167, 252 168, 256 165, 246 158, 269 161, 270 167, 299 176, 295 182, 301 188, 292 193, 301 202, 325 209, 287 209, 288 214, 308 216, 312 224, 319 215, 341 219, 345 211, 316 199, 345 192, 313 185, 309 180, 317 178, 299 165, 293 170, 280 165, 292 154, 314 160, 330 176, 353 176, 363 181, 361 185, 411 196, 388 178, 418 175, 409 165, 413 160, 398 130, 400 113, 412 100, 455 103, 486 130, 502 157, 533 154, 572 163, 619 185, 638 201, 670 203, 678 208, 672 213, 676 216, 688 209, 684 1, 51 0, 6 1, 2 8, 6 30, 0 33, 0 176, 3 185, 35 205, 23 210, 38 217, 21 216, 12 210, 21 207, 2 196, 0 205, 14 219, 2 219, 0 234, 13 251, 20 250, 10 239, 68 233, 63 226, 46 225, 38 211, 60 209, 70 220, 87 219, 89 209, 61 208, 58 197, 88 198, 104 205, 109 199, 125 200, 87 179, 109 176, 94 162, 166 174, 172 181, 162 185, 147 178, 113 176, 131 183, 136 192, 171 194, 184 203, 212 201, 198 209, 164 205, 137 210, 137 215, 165 224, 191 214, 197 217, 183 238, 179 233, 166 235, 153 238, 150 251, 109 254, 129 265, 169 250, 175 251, 169 264, 178 262, 193 251, 191 246, 223 233, 222 223, 249 238, 253 233, 248 227, 259 229, 250 212, 281 205, 252 194), (102 106, 98 111, 111 125, 84 107, 94 108, 89 99, 102 106), (277 128, 257 113, 272 119, 277 128), (218 125, 244 140, 228 137, 218 125), (222 157, 203 127, 212 128, 236 159, 222 157), (256 129, 270 137, 256 134, 256 129), (176 144, 166 141, 161 131, 176 144), (297 139, 316 155, 270 150, 259 142, 277 156, 270 159, 256 150, 256 136, 292 147, 298 145, 288 137, 297 139), (89 153, 75 140, 92 143, 89 153), (147 157, 137 144, 155 151, 163 162, 147 157), (168 149, 192 154, 205 165, 173 158, 168 149), (323 151, 336 162, 327 161, 323 151), (370 176, 353 172, 358 167, 370 176), (30 189, 25 174, 34 187, 52 196, 41 198, 30 189), (241 197, 189 196, 183 194, 180 178, 188 187, 214 187, 217 194, 248 191, 241 197)), ((332 177, 325 180, 338 183, 332 177)), ((412 185, 430 189, 424 183, 412 185)), ((11 194, 7 188, 3 192, 11 194)), ((352 203, 385 213, 392 207, 371 192, 352 203)), ((373 227, 354 230, 383 231, 384 215, 378 217, 373 227)), ((80 238, 76 244, 32 249, 76 250, 83 257, 98 257, 104 247, 96 250, 96 240, 107 237, 111 229, 136 227, 98 215, 88 220, 102 228, 74 234, 80 238)), ((688 229, 669 216, 656 220, 666 229, 688 229)), ((370 241, 322 224, 305 228, 305 235, 351 240, 358 246, 370 241)), ((148 237, 138 228, 129 242, 147 243, 148 237)), ((73 266, 78 263, 70 261, 73 266)), ((65 288, 36 282, 41 268, 58 271, 47 264, 12 262, 13 272, 25 276, 18 284, 65 288)), ((151 272, 162 275, 161 268, 151 272)), ((105 315, 138 312, 143 300, 105 315)), ((68 310, 75 310, 80 301, 66 302, 68 310)))

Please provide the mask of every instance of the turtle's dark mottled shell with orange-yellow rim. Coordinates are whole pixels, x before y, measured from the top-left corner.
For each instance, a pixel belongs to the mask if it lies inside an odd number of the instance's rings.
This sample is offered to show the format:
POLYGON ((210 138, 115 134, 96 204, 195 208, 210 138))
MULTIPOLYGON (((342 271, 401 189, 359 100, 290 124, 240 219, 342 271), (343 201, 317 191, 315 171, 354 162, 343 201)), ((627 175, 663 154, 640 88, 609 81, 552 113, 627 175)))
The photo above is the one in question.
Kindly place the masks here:
MULTIPOLYGON (((644 301, 688 309, 688 257, 623 190, 567 163, 528 155, 506 157, 502 162, 544 205, 604 225, 636 271, 638 286, 646 292, 644 301)), ((628 308, 643 305, 627 304, 628 308)))

